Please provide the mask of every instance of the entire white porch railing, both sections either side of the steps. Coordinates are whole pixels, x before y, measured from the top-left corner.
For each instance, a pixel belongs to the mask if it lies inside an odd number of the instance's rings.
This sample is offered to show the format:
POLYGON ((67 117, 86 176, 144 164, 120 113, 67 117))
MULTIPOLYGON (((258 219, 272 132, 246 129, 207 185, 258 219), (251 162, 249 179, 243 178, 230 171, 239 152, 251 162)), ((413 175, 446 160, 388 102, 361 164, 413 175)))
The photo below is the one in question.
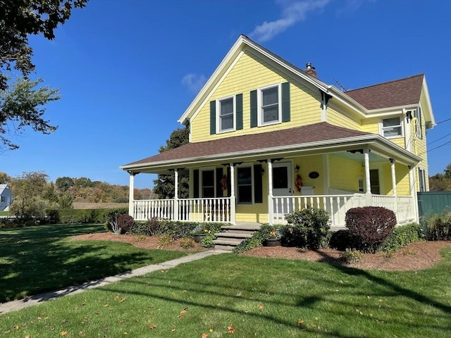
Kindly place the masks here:
MULTIPOLYGON (((151 199, 132 201, 133 218, 160 218, 190 222, 230 223, 230 197, 216 199, 151 199)), ((345 227, 346 211, 359 206, 383 206, 395 212, 397 223, 414 222, 415 206, 411 196, 381 196, 366 194, 274 196, 273 224, 286 223, 285 215, 302 208, 322 208, 330 215, 331 227, 345 227)))

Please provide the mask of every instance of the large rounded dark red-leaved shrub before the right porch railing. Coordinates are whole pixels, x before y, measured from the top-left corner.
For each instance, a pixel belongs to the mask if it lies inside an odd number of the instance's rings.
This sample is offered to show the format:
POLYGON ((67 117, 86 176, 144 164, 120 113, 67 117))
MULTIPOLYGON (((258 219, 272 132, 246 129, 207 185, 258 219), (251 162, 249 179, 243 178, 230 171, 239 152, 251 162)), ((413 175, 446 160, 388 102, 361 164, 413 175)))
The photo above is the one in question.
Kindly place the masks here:
POLYGON ((358 249, 376 252, 385 239, 393 232, 396 215, 381 206, 350 208, 346 212, 346 227, 354 237, 358 249))

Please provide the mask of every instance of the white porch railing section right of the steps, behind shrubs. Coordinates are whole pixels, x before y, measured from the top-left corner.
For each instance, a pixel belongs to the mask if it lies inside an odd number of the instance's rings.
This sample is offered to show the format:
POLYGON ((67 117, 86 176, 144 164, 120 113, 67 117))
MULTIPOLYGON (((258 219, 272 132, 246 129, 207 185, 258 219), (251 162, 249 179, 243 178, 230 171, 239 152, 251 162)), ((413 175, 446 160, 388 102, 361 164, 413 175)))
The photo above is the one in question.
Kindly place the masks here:
MULTIPOLYGON (((414 199, 410 196, 381 196, 365 194, 274 196, 273 224, 285 224, 285 215, 302 208, 322 208, 330 215, 330 227, 345 227, 346 211, 362 206, 383 206, 392 210, 398 224, 415 220, 414 199)), ((271 217, 271 216, 270 216, 271 217)))

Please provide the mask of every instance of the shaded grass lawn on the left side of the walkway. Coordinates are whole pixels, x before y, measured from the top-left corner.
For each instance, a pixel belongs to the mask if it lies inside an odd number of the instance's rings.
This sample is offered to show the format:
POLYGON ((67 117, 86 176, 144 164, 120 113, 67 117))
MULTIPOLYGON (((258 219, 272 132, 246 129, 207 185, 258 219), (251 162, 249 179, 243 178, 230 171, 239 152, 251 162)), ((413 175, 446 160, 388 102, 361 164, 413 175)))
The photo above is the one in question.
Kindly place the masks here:
MULTIPOLYGON (((42 225, 0 230, 0 303, 116 275, 187 253, 121 242, 77 242, 104 225, 42 225)), ((0 332, 1 335, 1 332, 0 332)))

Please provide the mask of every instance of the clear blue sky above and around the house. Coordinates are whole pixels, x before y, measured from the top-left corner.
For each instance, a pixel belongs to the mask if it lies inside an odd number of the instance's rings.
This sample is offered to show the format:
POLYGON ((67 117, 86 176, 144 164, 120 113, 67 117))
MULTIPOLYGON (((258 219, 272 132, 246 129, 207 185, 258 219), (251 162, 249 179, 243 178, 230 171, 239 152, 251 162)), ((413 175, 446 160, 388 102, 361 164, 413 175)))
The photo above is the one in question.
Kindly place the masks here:
MULTIPOLYGON (((30 37, 36 76, 59 88, 58 130, 30 130, 0 171, 128 185, 120 165, 158 153, 240 34, 346 89, 424 73, 435 121, 451 118, 451 1, 90 0, 56 39, 30 37)), ((430 175, 451 162, 451 120, 428 131, 430 175), (444 145, 443 145, 444 144, 444 145), (436 148, 436 149, 434 149, 436 148)), ((152 187, 137 175, 135 187, 152 187)))

